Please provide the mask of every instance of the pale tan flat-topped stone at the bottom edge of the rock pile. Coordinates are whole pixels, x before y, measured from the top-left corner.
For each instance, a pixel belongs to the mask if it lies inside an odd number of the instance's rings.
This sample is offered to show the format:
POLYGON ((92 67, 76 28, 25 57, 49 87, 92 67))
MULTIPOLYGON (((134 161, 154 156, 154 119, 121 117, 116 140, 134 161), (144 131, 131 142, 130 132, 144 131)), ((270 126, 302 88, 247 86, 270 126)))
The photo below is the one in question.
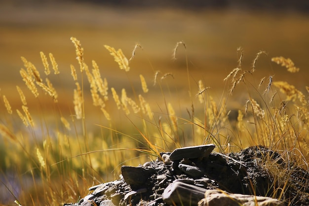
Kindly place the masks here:
POLYGON ((284 206, 282 201, 269 197, 231 194, 222 190, 207 190, 198 206, 284 206))

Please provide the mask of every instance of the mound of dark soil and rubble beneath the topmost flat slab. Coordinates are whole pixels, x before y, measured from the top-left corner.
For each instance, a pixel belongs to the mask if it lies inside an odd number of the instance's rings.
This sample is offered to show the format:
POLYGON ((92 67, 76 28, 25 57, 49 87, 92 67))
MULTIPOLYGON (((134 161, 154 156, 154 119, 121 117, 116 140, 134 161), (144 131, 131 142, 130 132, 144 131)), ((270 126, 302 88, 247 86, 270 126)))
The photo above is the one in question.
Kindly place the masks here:
POLYGON ((263 146, 240 152, 170 161, 170 153, 139 167, 123 166, 122 177, 89 188, 90 194, 64 206, 167 206, 164 189, 182 181, 204 189, 281 199, 288 206, 309 205, 309 172, 263 146), (167 158, 167 159, 166 159, 167 158), (188 170, 188 168, 190 170, 188 170))

